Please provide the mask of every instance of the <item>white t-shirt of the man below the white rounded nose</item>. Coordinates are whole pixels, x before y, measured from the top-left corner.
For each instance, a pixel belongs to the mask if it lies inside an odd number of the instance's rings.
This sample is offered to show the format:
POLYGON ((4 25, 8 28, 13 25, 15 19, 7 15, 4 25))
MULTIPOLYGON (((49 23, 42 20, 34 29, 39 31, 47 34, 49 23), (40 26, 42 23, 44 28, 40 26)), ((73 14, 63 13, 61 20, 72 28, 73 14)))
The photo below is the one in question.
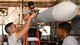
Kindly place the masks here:
POLYGON ((64 39, 62 45, 78 45, 78 42, 74 37, 68 36, 64 39))

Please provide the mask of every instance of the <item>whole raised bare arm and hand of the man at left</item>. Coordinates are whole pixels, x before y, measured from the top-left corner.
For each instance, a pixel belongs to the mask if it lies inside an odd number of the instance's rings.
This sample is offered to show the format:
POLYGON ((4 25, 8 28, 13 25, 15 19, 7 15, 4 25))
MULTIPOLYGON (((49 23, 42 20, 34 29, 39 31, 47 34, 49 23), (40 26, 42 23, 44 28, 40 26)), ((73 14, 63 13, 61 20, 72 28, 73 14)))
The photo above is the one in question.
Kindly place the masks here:
POLYGON ((35 13, 33 13, 26 21, 26 23, 23 26, 23 29, 20 32, 16 32, 16 37, 17 39, 21 38, 23 35, 26 34, 26 32, 29 30, 30 28, 30 24, 31 24, 31 20, 36 16, 35 13))

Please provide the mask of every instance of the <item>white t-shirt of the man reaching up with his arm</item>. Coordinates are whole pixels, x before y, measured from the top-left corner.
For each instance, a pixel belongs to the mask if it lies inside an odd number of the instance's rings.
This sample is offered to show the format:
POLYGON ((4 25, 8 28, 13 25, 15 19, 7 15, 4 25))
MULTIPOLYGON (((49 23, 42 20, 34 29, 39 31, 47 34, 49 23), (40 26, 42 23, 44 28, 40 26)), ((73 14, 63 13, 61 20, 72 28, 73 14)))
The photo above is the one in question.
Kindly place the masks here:
POLYGON ((11 36, 8 37, 9 45, 22 45, 21 39, 17 40, 16 33, 13 33, 11 36))

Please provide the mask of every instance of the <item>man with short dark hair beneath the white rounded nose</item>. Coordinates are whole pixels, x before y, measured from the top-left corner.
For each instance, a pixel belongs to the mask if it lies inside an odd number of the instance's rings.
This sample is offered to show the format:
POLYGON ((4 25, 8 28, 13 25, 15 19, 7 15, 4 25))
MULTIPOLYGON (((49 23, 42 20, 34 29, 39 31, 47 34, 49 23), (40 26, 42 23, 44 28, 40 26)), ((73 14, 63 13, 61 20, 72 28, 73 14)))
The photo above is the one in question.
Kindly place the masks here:
POLYGON ((60 23, 56 29, 56 35, 63 40, 62 45, 78 45, 77 40, 70 36, 71 25, 67 22, 60 23))

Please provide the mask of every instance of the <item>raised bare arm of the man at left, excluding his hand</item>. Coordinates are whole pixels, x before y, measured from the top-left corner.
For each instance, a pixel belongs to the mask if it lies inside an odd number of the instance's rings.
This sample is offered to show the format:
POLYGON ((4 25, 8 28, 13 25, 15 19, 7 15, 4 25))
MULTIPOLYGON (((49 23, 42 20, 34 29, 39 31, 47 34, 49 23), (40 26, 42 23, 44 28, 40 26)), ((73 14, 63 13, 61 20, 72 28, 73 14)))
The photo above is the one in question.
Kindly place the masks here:
POLYGON ((29 30, 30 28, 30 24, 31 24, 31 18, 29 18, 26 23, 23 26, 23 29, 17 33, 17 39, 21 38, 23 35, 26 34, 26 32, 29 30))

